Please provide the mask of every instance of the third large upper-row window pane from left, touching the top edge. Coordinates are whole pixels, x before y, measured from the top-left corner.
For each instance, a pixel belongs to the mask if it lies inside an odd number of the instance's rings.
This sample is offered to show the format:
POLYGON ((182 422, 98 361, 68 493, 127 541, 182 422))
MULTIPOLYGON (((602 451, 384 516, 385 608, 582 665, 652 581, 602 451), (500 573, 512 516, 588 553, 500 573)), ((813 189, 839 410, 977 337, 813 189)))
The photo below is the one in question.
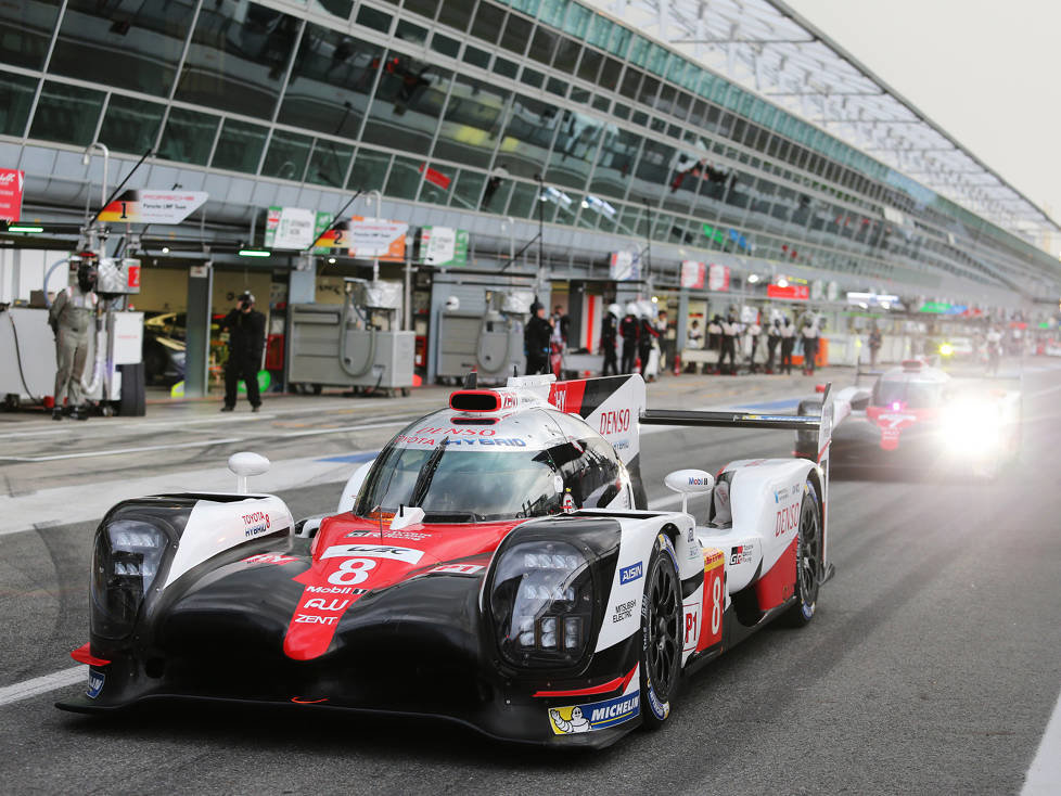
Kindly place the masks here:
POLYGON ((177 99, 271 118, 301 24, 252 3, 243 24, 233 25, 227 7, 203 7, 177 99))

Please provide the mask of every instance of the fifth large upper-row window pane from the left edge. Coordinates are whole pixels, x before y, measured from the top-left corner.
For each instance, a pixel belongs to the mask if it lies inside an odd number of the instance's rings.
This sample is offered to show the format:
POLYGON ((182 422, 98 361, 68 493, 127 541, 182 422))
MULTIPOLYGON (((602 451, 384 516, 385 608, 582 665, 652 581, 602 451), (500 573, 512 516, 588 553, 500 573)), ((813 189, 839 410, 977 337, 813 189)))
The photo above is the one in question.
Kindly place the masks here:
POLYGON ((451 76, 448 69, 391 50, 361 140, 426 154, 451 76))

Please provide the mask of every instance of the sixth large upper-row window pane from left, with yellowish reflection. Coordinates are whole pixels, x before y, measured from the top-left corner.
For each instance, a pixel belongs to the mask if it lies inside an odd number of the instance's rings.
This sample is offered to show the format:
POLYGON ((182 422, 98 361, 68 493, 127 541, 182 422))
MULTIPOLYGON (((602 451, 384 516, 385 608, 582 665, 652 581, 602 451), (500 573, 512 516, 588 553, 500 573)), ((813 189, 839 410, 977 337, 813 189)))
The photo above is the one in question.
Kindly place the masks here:
POLYGON ((438 128, 434 156, 489 167, 508 100, 504 89, 457 75, 438 128))

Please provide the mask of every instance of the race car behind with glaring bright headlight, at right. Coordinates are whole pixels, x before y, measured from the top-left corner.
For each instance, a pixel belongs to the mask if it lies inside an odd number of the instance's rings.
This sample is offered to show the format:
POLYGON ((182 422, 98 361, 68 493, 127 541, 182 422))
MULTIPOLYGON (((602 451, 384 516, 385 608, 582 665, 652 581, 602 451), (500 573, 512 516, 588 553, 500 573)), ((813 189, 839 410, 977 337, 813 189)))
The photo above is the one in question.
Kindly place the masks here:
MULTIPOLYGON (((877 376, 871 387, 840 389, 832 399, 830 460, 836 473, 931 471, 995 477, 1017 458, 1021 442, 1020 378, 959 377, 921 360, 904 361, 877 376)), ((822 399, 800 402, 797 412, 820 411, 822 399)), ((817 438, 796 433, 795 454, 817 461, 817 438)))

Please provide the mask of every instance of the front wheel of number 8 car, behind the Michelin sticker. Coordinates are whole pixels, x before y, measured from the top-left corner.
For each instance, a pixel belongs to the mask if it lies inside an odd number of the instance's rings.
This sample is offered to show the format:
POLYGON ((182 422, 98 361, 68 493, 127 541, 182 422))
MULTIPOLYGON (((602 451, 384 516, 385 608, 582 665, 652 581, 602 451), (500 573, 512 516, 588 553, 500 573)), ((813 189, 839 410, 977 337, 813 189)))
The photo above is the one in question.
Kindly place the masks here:
POLYGON ((659 730, 670 716, 670 699, 681 676, 681 582, 674 544, 656 536, 649 556, 641 600, 641 717, 649 730, 659 730))

